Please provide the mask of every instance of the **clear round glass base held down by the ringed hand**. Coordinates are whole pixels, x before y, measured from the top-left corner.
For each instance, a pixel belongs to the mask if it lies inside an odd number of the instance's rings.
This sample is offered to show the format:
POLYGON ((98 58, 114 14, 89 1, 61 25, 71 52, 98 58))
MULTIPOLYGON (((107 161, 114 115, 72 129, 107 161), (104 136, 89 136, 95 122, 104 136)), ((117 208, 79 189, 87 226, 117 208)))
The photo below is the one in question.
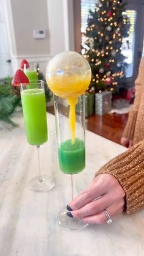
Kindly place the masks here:
POLYGON ((67 208, 63 208, 58 214, 59 224, 64 229, 83 229, 88 224, 82 221, 82 219, 70 218, 67 216, 67 208))

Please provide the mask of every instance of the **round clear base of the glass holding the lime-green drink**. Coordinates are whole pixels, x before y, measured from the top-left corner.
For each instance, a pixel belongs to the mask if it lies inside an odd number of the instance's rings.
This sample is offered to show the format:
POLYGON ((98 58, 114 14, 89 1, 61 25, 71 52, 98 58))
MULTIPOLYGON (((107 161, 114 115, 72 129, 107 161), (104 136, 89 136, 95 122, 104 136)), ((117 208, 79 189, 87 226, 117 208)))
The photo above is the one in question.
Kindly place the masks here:
POLYGON ((48 191, 53 188, 53 186, 54 180, 46 175, 42 177, 36 176, 29 181, 29 188, 34 191, 48 191))

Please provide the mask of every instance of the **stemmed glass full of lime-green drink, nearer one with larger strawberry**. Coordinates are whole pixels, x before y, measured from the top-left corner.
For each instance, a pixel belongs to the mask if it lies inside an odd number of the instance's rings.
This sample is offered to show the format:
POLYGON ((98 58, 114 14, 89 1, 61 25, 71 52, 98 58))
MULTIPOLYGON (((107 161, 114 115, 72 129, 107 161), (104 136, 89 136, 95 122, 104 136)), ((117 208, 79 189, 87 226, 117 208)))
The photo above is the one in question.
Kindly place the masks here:
POLYGON ((42 175, 40 167, 40 145, 48 141, 44 82, 30 80, 29 85, 21 84, 21 102, 27 142, 36 145, 38 154, 39 175, 29 181, 29 188, 48 191, 54 186, 54 181, 51 177, 42 175))

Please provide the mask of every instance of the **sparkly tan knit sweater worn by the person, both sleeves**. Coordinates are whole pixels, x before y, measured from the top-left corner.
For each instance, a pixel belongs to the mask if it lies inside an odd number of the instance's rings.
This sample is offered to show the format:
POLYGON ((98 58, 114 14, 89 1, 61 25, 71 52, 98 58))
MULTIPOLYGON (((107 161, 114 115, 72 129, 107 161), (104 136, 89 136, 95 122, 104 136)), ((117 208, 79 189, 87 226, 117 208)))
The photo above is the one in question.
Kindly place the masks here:
POLYGON ((144 57, 140 62, 135 90, 134 106, 123 132, 123 137, 134 139, 134 146, 96 173, 96 176, 105 173, 117 178, 126 193, 124 211, 128 214, 144 207, 144 57))

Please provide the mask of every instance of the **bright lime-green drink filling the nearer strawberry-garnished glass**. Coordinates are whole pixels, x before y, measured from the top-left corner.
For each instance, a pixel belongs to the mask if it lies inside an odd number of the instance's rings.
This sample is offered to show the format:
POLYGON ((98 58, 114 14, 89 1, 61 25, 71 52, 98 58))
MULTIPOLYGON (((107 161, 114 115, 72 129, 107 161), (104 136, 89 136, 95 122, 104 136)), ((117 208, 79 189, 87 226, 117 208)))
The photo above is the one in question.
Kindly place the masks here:
POLYGON ((48 141, 46 124, 46 103, 43 89, 27 89, 21 91, 24 124, 27 142, 41 145, 48 141))

